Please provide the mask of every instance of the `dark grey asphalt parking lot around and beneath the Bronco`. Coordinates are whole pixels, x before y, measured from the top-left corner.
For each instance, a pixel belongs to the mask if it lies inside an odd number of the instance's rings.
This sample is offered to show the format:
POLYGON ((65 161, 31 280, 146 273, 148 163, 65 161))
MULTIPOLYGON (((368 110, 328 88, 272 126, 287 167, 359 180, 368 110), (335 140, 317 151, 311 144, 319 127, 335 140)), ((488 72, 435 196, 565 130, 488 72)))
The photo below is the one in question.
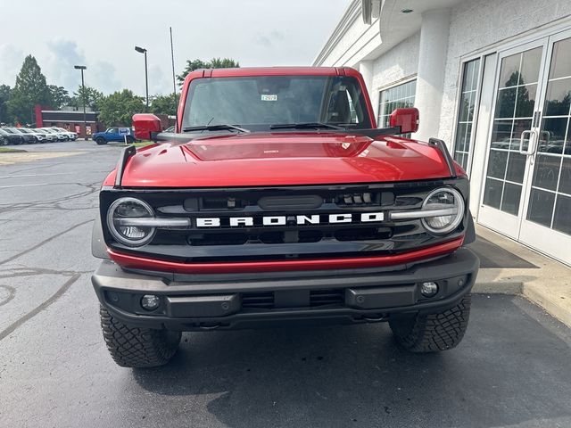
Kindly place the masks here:
POLYGON ((169 366, 115 366, 89 282, 97 189, 120 146, 26 146, 0 165, 1 427, 569 427, 571 331, 476 295, 456 350, 387 325, 186 333, 169 366))

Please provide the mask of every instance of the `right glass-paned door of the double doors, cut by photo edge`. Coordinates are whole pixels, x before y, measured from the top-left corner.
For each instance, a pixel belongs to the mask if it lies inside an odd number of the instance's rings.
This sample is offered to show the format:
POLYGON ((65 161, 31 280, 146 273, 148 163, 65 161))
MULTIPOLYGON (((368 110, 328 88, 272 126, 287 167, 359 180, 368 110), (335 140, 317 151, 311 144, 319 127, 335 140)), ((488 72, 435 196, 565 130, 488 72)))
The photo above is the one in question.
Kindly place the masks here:
POLYGON ((519 240, 571 265, 571 31, 549 39, 519 240))

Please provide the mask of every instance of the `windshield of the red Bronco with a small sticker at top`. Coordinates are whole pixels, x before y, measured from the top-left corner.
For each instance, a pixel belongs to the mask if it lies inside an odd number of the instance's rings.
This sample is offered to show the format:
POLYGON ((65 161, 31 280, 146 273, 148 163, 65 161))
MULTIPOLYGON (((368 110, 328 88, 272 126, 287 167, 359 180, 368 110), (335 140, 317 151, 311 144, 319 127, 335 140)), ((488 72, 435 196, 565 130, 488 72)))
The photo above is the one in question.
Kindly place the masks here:
POLYGON ((197 78, 188 87, 183 128, 326 123, 371 128, 359 81, 346 76, 197 78))

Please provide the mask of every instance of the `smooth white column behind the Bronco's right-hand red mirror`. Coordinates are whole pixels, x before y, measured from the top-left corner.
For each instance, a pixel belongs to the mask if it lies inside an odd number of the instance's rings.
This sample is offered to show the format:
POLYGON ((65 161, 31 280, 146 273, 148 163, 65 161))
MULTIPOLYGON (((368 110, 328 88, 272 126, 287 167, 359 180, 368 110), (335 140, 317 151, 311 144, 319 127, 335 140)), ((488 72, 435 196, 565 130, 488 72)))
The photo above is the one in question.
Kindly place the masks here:
POLYGON ((449 32, 450 9, 422 14, 415 97, 415 106, 420 112, 420 127, 413 134, 413 138, 418 140, 428 141, 431 136, 438 136, 449 32))

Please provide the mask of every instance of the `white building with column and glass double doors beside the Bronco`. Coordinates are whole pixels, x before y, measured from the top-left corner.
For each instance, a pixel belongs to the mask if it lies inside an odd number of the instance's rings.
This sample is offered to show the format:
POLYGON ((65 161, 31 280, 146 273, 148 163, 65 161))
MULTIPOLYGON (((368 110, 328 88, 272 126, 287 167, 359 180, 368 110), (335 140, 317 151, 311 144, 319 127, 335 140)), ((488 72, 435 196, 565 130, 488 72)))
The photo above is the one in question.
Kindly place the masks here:
POLYGON ((571 265, 571 0, 353 0, 314 65, 360 70, 379 127, 417 107, 476 221, 571 265))

